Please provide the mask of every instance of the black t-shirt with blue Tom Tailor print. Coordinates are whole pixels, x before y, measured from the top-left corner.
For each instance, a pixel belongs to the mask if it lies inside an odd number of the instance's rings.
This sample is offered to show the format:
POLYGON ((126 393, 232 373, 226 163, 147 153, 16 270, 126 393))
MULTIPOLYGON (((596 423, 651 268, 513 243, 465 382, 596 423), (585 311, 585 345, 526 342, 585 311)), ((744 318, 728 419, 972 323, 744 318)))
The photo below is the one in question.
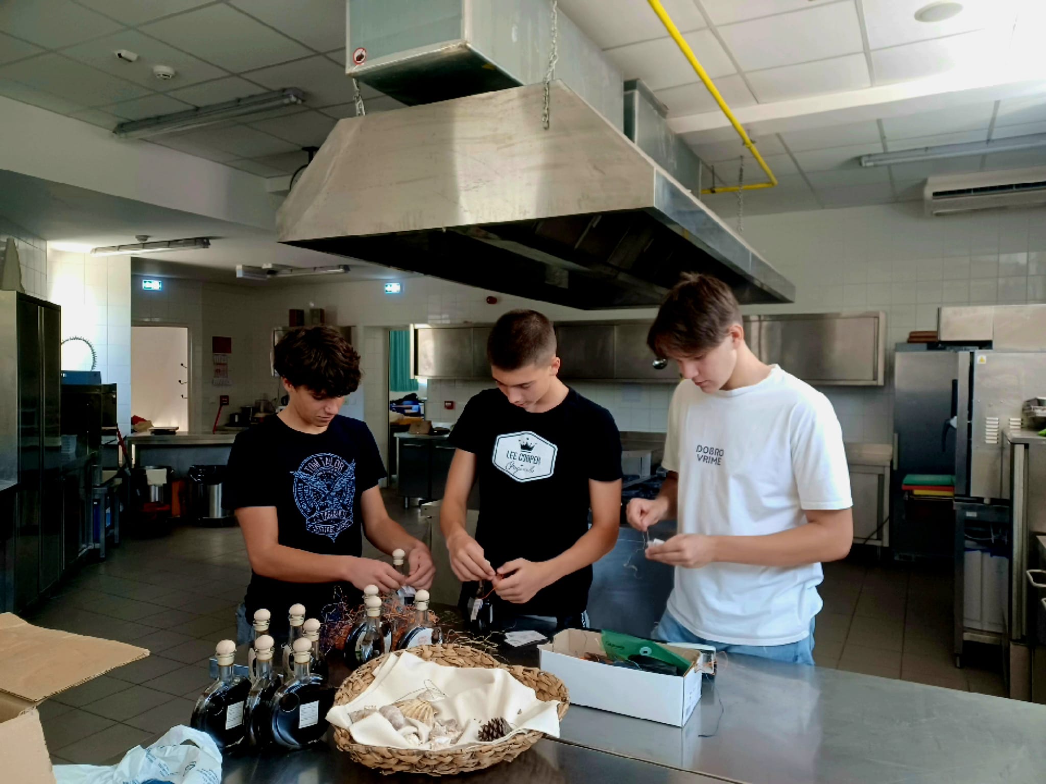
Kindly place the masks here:
MULTIPOLYGON (((244 431, 229 454, 223 485, 230 509, 274 506, 280 545, 322 555, 356 555, 363 549, 360 497, 385 476, 374 438, 358 419, 336 416, 323 433, 296 431, 278 416, 244 431)), ((349 602, 360 592, 348 582, 285 582, 251 573, 247 620, 265 607, 274 636, 287 633, 287 609, 305 605, 322 620, 323 607, 341 586, 349 602)))

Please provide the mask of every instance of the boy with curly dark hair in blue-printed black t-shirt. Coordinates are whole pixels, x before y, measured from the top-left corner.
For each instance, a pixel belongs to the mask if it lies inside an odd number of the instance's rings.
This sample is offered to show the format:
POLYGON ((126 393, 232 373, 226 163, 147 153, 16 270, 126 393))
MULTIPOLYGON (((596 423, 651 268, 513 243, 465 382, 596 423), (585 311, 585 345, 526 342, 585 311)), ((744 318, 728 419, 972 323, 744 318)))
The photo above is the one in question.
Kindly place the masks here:
POLYGON ((321 618, 336 587, 356 604, 368 584, 427 589, 435 574, 429 549, 385 510, 378 487, 385 466, 367 425, 338 416, 359 387, 360 355, 333 327, 299 327, 276 345, 273 366, 288 406, 236 436, 225 482, 251 561, 240 642, 251 638, 249 619, 262 607, 281 638, 292 604, 321 618), (363 532, 384 553, 407 552, 406 580, 391 564, 361 557, 363 532))

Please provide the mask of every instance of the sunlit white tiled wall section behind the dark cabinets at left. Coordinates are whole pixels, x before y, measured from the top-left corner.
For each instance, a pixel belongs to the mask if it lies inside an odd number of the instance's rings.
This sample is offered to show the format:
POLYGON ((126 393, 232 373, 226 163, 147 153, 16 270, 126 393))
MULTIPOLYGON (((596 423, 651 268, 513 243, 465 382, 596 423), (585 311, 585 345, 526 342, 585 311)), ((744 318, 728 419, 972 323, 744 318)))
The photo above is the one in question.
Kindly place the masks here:
POLYGON ((116 384, 117 420, 131 429, 131 258, 49 249, 47 299, 62 305, 62 338, 87 338, 104 384, 116 384))

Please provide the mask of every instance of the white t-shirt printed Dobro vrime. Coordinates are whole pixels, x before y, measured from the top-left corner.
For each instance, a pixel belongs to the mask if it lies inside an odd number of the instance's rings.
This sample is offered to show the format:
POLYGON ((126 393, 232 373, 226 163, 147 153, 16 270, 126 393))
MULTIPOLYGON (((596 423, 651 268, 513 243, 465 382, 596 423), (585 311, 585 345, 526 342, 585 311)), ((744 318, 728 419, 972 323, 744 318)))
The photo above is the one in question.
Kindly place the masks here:
MULTIPOLYGON (((763 535, 805 525, 803 509, 847 509, 842 429, 820 392, 776 365, 758 384, 676 388, 663 466, 679 472, 679 532, 763 535)), ((821 608, 820 563, 676 569, 668 612, 698 637, 735 645, 805 639, 821 608)))

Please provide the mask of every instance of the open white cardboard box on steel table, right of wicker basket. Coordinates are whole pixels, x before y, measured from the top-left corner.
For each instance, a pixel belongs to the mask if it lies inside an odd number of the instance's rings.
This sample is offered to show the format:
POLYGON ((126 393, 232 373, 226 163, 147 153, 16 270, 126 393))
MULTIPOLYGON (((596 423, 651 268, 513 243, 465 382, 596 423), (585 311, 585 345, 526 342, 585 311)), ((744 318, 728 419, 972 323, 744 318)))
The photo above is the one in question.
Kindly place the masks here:
POLYGON ((563 681, 572 704, 682 727, 701 699, 702 672, 714 672, 714 648, 664 647, 692 662, 685 675, 660 675, 585 661, 586 653, 605 654, 598 631, 565 629, 538 649, 541 668, 563 681))

